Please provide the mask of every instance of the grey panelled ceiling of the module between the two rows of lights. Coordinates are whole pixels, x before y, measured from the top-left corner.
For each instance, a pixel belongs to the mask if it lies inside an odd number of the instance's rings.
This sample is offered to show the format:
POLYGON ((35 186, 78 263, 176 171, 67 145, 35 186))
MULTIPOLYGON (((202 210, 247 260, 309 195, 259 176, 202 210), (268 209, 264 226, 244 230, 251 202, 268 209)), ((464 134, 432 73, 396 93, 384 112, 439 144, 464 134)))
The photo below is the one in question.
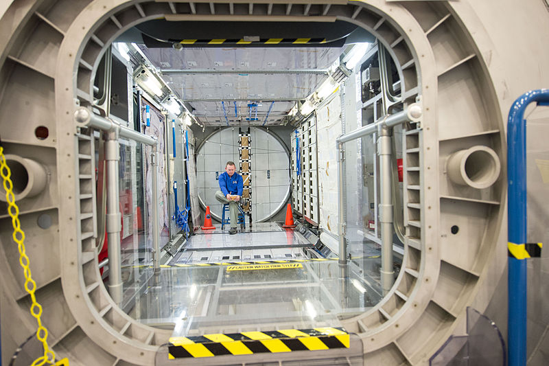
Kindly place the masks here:
MULTIPOLYGON (((334 47, 180 50, 140 47, 154 67, 165 71, 165 82, 181 100, 191 104, 193 113, 200 121, 213 126, 226 124, 225 113, 229 123, 277 124, 296 100, 307 97, 327 77, 325 73, 304 73, 300 70, 326 70, 338 60, 342 52, 342 49, 334 47), (211 73, 174 73, 178 70, 206 70, 211 73), (223 73, 227 70, 239 72, 223 73), (250 73, 258 70, 266 72, 250 73), (290 70, 291 73, 288 73, 290 70), (284 101, 274 102, 266 119, 270 99, 284 101), (257 121, 246 121, 246 117, 249 117, 248 102, 263 104, 257 108, 257 121)), ((255 113, 252 117, 255 117, 255 113)))

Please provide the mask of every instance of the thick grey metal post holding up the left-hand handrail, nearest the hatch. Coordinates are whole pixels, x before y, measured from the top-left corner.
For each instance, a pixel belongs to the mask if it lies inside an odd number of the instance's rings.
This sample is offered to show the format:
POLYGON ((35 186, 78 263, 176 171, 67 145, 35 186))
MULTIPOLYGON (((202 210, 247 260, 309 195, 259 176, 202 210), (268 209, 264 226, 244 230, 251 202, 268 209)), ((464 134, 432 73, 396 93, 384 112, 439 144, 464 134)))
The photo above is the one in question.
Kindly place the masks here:
POLYGON ((106 231, 108 239, 108 292, 113 301, 120 305, 123 297, 123 288, 120 253, 121 214, 118 182, 120 148, 118 144, 118 129, 106 132, 104 139, 107 172, 106 231))

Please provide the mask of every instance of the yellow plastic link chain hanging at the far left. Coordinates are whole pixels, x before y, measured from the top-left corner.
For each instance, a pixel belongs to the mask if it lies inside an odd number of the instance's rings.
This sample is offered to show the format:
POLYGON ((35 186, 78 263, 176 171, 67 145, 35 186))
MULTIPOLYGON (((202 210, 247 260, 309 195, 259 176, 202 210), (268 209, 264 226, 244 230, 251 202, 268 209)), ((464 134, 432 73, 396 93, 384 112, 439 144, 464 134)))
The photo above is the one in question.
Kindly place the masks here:
POLYGON ((21 221, 19 221, 19 207, 15 204, 15 196, 13 194, 13 183, 11 179, 12 172, 8 168, 8 164, 5 163, 4 149, 0 146, 0 175, 3 179, 3 187, 5 190, 5 198, 8 201, 8 214, 12 218, 13 226, 13 240, 17 243, 19 247, 19 264, 23 267, 23 273, 25 274, 25 290, 29 293, 32 299, 32 305, 30 306, 30 313, 36 322, 38 323, 38 329, 36 330, 36 338, 38 341, 42 342, 44 347, 44 354, 39 358, 36 358, 34 363, 31 366, 42 366, 48 363, 53 365, 56 362, 56 354, 54 351, 49 349, 47 345, 47 329, 42 325, 42 306, 36 301, 36 295, 34 294, 36 290, 36 282, 32 279, 30 268, 29 268, 29 258, 25 253, 25 233, 21 230, 21 221))

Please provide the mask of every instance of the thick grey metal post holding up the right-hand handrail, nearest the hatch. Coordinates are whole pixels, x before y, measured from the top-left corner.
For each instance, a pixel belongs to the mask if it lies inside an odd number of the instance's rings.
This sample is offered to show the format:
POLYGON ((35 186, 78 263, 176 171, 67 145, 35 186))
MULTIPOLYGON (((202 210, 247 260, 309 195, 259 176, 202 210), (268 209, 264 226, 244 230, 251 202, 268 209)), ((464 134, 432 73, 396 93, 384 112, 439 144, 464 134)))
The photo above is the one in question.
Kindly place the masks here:
POLYGON ((379 222, 382 231, 382 289, 388 293, 395 282, 393 270, 393 192, 391 190, 391 137, 390 129, 380 127, 377 138, 377 155, 379 155, 379 222))

